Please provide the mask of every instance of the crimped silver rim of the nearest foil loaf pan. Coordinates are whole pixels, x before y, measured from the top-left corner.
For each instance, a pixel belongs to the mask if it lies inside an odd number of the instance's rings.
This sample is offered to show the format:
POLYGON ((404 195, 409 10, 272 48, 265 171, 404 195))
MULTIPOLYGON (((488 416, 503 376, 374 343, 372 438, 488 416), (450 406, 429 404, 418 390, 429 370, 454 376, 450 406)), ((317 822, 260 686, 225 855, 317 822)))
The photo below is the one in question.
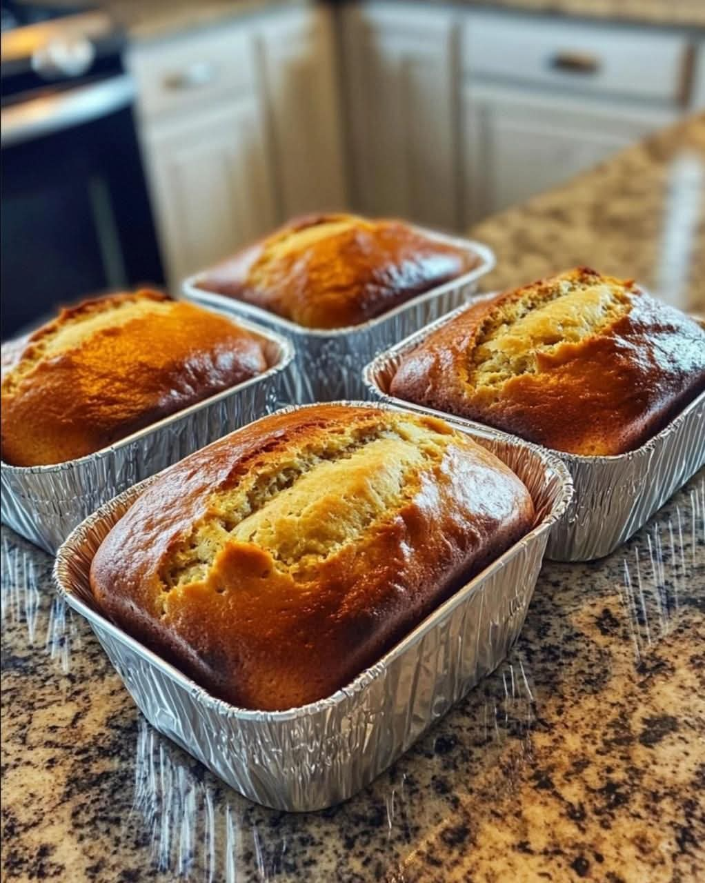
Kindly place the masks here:
MULTIPOLYGON (((275 413, 290 413, 292 411, 313 408, 318 406, 318 404, 319 403, 290 405, 285 408, 280 408, 278 411, 275 411, 275 413)), ((411 413, 413 416, 417 416, 414 411, 410 411, 410 409, 408 408, 398 407, 396 404, 373 403, 363 401, 339 401, 325 404, 343 404, 352 407, 378 408, 382 411, 406 412, 411 413)), ((247 426, 243 426, 235 430, 230 435, 243 432, 249 426, 254 426, 254 424, 259 423, 262 419, 267 419, 267 417, 262 417, 259 420, 254 420, 253 423, 250 423, 247 426)), ((461 426, 454 426, 454 428, 457 428, 460 431, 463 430, 463 427, 461 426)), ((80 546, 85 534, 92 531, 96 523, 100 523, 104 518, 110 517, 114 509, 122 509, 123 506, 125 506, 125 509, 123 509, 122 513, 125 514, 125 511, 129 508, 130 505, 132 505, 133 502, 137 500, 142 491, 146 490, 150 484, 152 484, 157 478, 159 478, 159 476, 162 474, 161 472, 158 472, 156 475, 150 476, 148 479, 140 481, 139 484, 133 485, 133 487, 128 488, 122 494, 114 497, 109 502, 103 503, 103 505, 99 509, 97 509, 92 515, 88 516, 84 521, 80 523, 80 525, 72 530, 66 540, 64 540, 64 543, 61 545, 61 547, 59 547, 52 570, 52 577, 54 579, 55 585, 57 586, 57 591, 70 607, 77 610, 81 615, 85 616, 90 623, 97 623, 100 628, 109 631, 110 635, 113 638, 117 639, 123 644, 129 645, 134 652, 140 653, 142 656, 146 656, 153 665, 162 670, 163 674, 169 676, 172 681, 180 683, 194 696, 198 697, 199 702, 204 703, 206 706, 210 707, 212 710, 220 715, 238 718, 239 720, 243 721, 260 721, 274 724, 282 721, 292 721, 299 718, 306 718, 312 714, 322 712, 325 709, 337 706, 345 699, 352 698, 360 694, 360 692, 366 690, 368 685, 375 681, 379 673, 384 668, 388 667, 390 660, 393 660, 399 654, 404 653, 410 645, 413 645, 415 642, 420 640, 426 633, 426 631, 432 629, 436 621, 442 618, 449 611, 451 611, 451 609, 455 605, 459 603, 466 603, 469 597, 471 597, 472 593, 481 589, 482 583, 490 575, 495 573, 497 570, 504 568, 506 562, 511 560, 515 555, 518 555, 523 547, 526 547, 530 542, 537 540, 544 532, 550 532, 551 527, 555 525, 561 517, 563 517, 569 502, 571 502, 573 493, 571 475, 565 467, 565 464, 561 463, 561 461, 557 459, 557 457, 554 457, 549 451, 540 448, 538 445, 531 444, 530 442, 522 442, 520 439, 517 440, 513 437, 508 438, 506 434, 497 433, 496 431, 489 429, 489 427, 487 426, 477 427, 480 430, 479 432, 476 431, 476 427, 474 426, 469 428, 471 428, 476 435, 483 435, 486 439, 489 440, 495 438, 498 441, 508 441, 518 446, 519 448, 527 449, 531 452, 531 454, 534 455, 534 457, 538 457, 538 459, 542 461, 544 468, 548 467, 553 470, 553 472, 557 475, 557 479, 560 481, 561 493, 557 498, 557 501, 551 507, 550 512, 543 515, 539 524, 534 525, 534 527, 523 537, 517 540, 512 545, 512 547, 508 548, 502 555, 495 559, 495 561, 491 562, 486 568, 481 570, 480 573, 476 574, 468 583, 466 583, 466 585, 462 587, 463 590, 465 590, 462 594, 462 597, 459 597, 459 592, 454 592, 450 598, 443 601, 442 605, 432 611, 425 619, 421 621, 421 623, 419 623, 412 631, 410 631, 408 635, 398 641, 396 645, 391 647, 390 650, 385 653, 380 660, 377 660, 377 662, 375 662, 375 664, 370 666, 369 668, 364 669, 364 671, 360 672, 359 675, 356 675, 350 683, 346 684, 345 687, 340 688, 329 697, 317 699, 315 702, 308 703, 305 706, 288 708, 284 711, 260 711, 257 709, 239 708, 238 706, 233 706, 230 703, 225 702, 224 699, 219 699, 212 696, 205 688, 201 687, 198 683, 193 681, 192 678, 185 675, 176 666, 173 666, 170 662, 163 660, 163 658, 157 653, 149 650, 148 647, 141 644, 140 641, 127 634, 127 632, 125 632, 124 630, 120 629, 115 623, 110 622, 110 620, 102 615, 102 613, 99 612, 97 609, 94 609, 89 604, 87 604, 86 601, 81 600, 74 595, 72 589, 70 588, 71 577, 69 576, 68 572, 68 562, 69 559, 72 557, 73 547, 80 546)), ((113 522, 113 524, 115 523, 116 522, 113 522)), ((342 736, 343 734, 341 734, 341 737, 342 736)))

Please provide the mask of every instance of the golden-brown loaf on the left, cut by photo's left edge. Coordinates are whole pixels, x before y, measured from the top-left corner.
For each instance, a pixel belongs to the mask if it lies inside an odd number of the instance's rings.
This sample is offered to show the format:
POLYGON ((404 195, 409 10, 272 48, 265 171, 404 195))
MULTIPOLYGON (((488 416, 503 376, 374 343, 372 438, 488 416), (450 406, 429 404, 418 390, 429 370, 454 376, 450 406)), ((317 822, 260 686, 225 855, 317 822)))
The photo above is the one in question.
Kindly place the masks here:
POLYGON ((34 332, 3 375, 3 459, 92 454, 266 370, 262 338, 154 291, 88 300, 34 332))

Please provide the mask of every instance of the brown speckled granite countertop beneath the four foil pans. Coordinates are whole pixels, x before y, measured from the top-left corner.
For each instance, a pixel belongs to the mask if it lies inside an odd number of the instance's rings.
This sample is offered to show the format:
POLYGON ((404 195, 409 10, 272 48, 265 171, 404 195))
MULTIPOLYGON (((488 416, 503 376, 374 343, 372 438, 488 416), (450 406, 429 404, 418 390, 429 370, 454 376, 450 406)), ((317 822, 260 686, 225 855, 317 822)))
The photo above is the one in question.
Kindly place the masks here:
MULTIPOLYGON (((675 192, 681 222, 697 216, 703 135, 701 118, 481 224, 490 283, 575 260, 658 279, 666 182, 689 146, 675 192)), ((700 300, 695 228, 672 247, 700 300)), ((546 562, 501 667, 368 789, 310 814, 248 803, 152 729, 53 595, 49 555, 4 529, 2 563, 5 880, 705 879, 705 470, 609 557, 546 562)))

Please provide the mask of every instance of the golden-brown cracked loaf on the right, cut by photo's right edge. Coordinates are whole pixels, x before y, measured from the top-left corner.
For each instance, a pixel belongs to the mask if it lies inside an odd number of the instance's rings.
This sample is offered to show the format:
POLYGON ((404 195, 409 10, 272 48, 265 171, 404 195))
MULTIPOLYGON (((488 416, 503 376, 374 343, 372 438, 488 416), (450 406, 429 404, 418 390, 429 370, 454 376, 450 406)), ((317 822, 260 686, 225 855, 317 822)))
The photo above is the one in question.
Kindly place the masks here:
POLYGON ((587 456, 623 454, 705 388, 705 331, 595 270, 479 301, 403 359, 393 396, 587 456))

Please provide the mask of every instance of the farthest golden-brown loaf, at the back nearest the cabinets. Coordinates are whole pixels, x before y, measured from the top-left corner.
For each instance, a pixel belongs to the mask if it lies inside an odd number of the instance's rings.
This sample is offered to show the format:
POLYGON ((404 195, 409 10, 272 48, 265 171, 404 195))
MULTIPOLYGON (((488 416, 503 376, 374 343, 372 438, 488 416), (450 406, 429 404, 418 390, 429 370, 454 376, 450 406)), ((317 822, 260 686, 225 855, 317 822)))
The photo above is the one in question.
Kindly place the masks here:
POLYGON ((226 260, 197 284, 305 328, 345 328, 466 273, 479 260, 400 221, 310 215, 226 260))

